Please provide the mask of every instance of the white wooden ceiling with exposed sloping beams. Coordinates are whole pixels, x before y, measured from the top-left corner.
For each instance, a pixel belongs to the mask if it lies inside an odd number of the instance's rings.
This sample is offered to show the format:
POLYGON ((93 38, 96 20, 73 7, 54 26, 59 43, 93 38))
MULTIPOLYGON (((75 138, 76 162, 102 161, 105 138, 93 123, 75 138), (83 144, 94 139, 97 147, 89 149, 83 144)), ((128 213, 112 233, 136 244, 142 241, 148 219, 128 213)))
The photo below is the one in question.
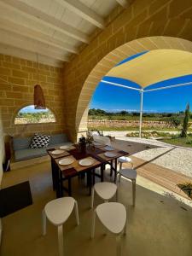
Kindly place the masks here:
POLYGON ((0 53, 61 66, 128 0, 0 0, 0 53))

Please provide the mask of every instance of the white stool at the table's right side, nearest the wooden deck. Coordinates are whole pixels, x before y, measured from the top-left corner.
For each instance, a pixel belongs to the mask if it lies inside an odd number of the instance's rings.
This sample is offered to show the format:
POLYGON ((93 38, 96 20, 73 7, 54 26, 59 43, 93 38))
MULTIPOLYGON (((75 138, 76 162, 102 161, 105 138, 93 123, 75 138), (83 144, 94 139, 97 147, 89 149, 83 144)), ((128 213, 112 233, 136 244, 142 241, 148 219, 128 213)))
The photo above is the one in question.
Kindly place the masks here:
POLYGON ((132 182, 132 204, 135 207, 136 204, 136 179, 137 179, 137 171, 134 169, 121 169, 118 172, 119 174, 119 183, 120 177, 126 177, 131 180, 132 182))

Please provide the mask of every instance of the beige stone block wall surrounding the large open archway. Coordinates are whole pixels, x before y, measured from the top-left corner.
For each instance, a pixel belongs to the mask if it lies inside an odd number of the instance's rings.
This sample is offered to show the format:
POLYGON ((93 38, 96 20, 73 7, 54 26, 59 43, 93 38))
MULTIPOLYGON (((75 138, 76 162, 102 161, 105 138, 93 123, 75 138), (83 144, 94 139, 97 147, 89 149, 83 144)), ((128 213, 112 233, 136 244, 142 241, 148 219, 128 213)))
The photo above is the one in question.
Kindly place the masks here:
MULTIPOLYGON (((66 87, 67 130, 73 140, 82 122, 84 125, 80 130, 86 129, 87 102, 90 102, 96 84, 109 68, 129 55, 146 50, 146 37, 166 36, 192 40, 191 0, 135 0, 129 8, 117 9, 117 16, 114 14, 115 10, 108 18, 108 26, 102 32, 96 30, 96 37, 93 37, 91 43, 65 65, 63 79, 66 87), (117 49, 137 38, 143 38, 142 45, 133 43, 117 49), (112 51, 113 54, 108 56, 112 51), (100 67, 93 72, 101 60, 100 67), (86 90, 81 97, 84 87, 86 90)), ((184 49, 183 45, 172 39, 166 42, 164 38, 157 38, 154 42, 148 40, 147 44, 147 49, 184 49), (160 47, 157 47, 158 44, 160 47), (172 48, 172 45, 175 46, 172 48)))

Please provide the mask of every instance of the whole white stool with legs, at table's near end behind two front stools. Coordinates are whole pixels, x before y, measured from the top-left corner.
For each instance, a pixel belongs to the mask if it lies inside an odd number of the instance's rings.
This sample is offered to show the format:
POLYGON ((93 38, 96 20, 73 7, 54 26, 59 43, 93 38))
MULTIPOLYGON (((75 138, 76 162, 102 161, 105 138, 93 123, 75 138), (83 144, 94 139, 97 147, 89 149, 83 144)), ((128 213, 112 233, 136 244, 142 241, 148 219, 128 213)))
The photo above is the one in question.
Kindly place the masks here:
POLYGON ((94 206, 94 197, 95 197, 95 191, 96 194, 99 195, 105 202, 108 202, 115 194, 116 194, 116 201, 118 197, 118 190, 117 185, 114 183, 96 183, 91 190, 91 205, 90 207, 93 209, 94 206))

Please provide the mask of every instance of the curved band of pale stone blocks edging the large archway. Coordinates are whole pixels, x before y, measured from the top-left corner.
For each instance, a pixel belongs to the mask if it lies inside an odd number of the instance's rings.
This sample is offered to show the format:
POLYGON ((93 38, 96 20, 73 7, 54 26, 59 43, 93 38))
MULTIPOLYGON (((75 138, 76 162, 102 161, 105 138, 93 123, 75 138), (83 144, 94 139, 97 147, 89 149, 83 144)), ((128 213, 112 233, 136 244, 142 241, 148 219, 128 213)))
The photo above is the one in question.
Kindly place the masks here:
POLYGON ((182 38, 162 36, 139 38, 113 49, 108 55, 103 57, 84 81, 80 92, 75 119, 77 135, 87 130, 90 99, 102 77, 105 76, 114 65, 119 63, 119 61, 139 52, 153 49, 180 49, 192 52, 192 42, 182 38))

